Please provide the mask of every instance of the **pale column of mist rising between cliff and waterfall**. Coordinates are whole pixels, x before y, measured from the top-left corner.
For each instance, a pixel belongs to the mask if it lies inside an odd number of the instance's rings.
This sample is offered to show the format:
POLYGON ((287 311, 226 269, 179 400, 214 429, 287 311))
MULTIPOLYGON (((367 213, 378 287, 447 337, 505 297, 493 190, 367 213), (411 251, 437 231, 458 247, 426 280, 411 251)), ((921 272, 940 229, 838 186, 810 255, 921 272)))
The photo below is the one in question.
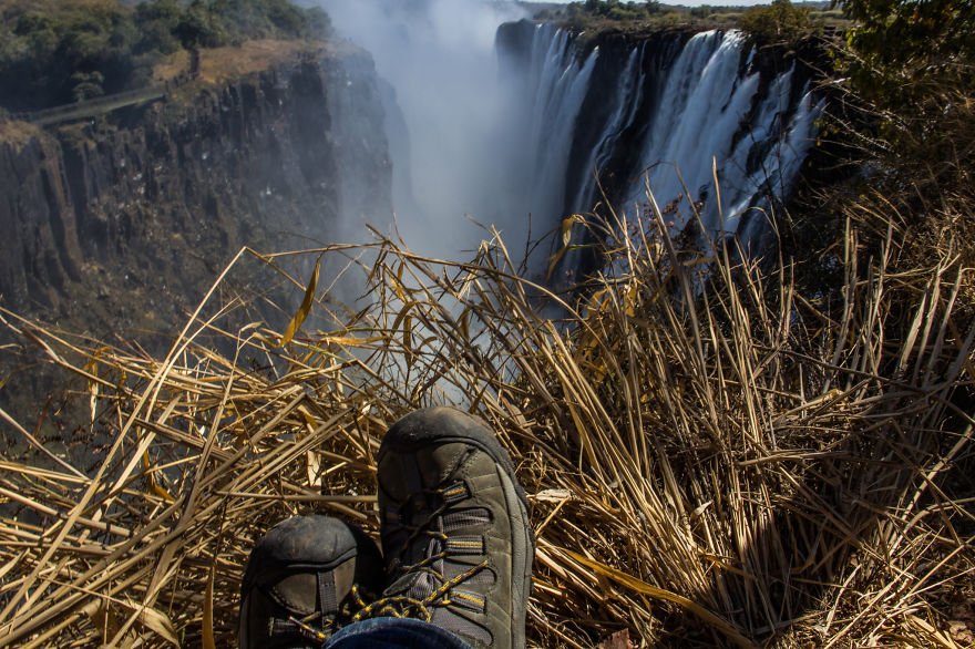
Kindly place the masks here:
POLYGON ((454 256, 476 248, 489 236, 481 226, 493 225, 517 250, 527 215, 504 186, 504 161, 516 143, 503 120, 510 90, 494 39, 524 10, 478 0, 320 2, 338 34, 368 50, 391 86, 383 107, 406 243, 454 256))

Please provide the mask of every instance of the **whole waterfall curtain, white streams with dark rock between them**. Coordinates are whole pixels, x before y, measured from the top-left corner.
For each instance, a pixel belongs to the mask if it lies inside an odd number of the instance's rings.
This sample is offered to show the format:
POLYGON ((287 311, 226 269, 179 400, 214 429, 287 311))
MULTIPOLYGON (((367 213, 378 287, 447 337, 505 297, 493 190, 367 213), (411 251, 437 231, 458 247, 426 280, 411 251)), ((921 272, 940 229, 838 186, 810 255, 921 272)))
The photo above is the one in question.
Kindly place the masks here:
POLYGON ((585 53, 564 30, 503 29, 521 33, 500 38, 499 48, 531 40, 522 50, 531 58, 522 62, 531 92, 514 101, 531 115, 532 162, 513 166, 533 188, 531 208, 548 228, 592 210, 601 199, 596 178, 612 175, 608 198, 630 217, 647 214, 649 186, 674 233, 696 209, 708 234, 758 237, 769 200, 788 196, 815 138, 823 100, 794 64, 780 73, 760 70, 741 32, 708 31, 686 41, 674 34, 669 49, 659 41, 627 43, 597 66, 604 52, 585 53), (566 178, 575 179, 569 192, 566 178))

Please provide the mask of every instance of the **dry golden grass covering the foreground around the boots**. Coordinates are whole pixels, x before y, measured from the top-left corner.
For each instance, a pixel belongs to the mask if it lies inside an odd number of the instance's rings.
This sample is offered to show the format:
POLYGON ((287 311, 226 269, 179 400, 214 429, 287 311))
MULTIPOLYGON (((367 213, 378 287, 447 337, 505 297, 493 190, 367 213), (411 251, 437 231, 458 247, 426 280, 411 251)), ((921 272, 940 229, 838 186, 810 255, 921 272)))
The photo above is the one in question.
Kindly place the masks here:
POLYGON ((358 259, 369 296, 347 312, 316 291, 340 327, 279 348, 261 324, 222 333, 207 303, 163 359, 7 313, 83 378, 111 446, 90 472, 3 462, 0 645, 213 630, 232 646, 253 542, 295 513, 374 532, 383 431, 458 402, 500 431, 533 503, 533 643, 628 629, 640 646, 957 647, 951 607, 975 568, 971 493, 953 491, 971 467, 971 270, 951 250, 903 272, 858 250, 851 228, 827 305, 797 292, 791 262, 634 234, 568 305, 519 279, 496 238, 470 264, 337 247, 324 254, 358 259))

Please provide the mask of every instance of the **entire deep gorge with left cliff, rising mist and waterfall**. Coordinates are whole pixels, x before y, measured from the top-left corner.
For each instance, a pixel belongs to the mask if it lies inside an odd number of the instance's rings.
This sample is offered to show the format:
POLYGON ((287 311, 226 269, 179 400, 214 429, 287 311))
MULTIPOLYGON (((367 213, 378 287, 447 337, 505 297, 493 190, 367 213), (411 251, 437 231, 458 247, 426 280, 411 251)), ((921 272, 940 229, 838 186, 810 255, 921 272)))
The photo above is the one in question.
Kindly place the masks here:
POLYGON ((420 253, 463 255, 495 226, 524 255, 597 204, 587 218, 645 216, 647 186, 674 233, 697 212, 709 236, 758 240, 823 105, 810 52, 740 32, 576 34, 509 3, 325 7, 356 45, 7 138, 3 305, 165 329, 244 245, 363 240, 394 219, 420 253))

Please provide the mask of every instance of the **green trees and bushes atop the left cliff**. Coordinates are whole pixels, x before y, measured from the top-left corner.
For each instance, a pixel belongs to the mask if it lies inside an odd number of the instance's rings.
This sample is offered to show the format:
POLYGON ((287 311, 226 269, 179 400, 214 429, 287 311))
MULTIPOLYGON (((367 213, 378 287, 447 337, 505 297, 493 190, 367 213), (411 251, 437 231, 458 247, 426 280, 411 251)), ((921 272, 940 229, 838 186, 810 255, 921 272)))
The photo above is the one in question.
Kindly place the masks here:
POLYGON ((324 11, 290 0, 0 0, 0 102, 22 111, 92 99, 146 85, 181 49, 328 30, 324 11))

